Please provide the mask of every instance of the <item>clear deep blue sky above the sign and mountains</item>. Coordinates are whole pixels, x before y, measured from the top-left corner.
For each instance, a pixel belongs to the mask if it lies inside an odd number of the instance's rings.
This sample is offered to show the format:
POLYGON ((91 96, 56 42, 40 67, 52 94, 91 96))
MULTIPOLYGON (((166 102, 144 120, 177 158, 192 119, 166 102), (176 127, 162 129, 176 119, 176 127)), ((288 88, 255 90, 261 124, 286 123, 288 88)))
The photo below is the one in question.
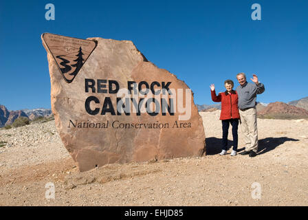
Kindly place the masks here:
MULTIPOLYGON (((308 1, 0 1, 0 104, 50 108, 41 34, 130 40, 148 61, 184 80, 196 104, 214 104, 209 85, 257 74, 260 102, 308 96, 308 1), (45 19, 53 3, 55 21, 45 19), (261 21, 253 21, 253 3, 261 21)), ((250 79, 249 79, 250 80, 250 79)))

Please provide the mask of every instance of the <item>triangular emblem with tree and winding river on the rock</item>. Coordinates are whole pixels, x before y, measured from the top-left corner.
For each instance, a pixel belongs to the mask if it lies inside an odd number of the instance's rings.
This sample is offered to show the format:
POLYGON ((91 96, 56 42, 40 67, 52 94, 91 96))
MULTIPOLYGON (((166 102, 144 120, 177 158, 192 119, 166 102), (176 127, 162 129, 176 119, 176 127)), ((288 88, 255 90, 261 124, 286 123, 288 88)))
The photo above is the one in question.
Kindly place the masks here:
POLYGON ((76 39, 57 34, 45 33, 42 35, 46 50, 54 57, 66 83, 72 83, 87 58, 96 48, 95 41, 76 39))

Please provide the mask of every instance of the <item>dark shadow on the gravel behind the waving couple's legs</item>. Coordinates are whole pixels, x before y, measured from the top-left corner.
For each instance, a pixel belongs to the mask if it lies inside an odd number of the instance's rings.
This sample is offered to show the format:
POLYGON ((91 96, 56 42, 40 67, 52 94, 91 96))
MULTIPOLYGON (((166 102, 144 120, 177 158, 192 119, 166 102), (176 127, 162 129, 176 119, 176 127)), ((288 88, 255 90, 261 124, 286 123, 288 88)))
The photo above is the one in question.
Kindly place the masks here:
MULTIPOLYGON (((258 154, 267 153, 274 150, 277 146, 285 142, 298 142, 298 139, 289 137, 266 137, 259 140, 258 154)), ((232 141, 228 140, 228 150, 232 148, 232 141)), ((245 147, 238 148, 237 152, 245 150, 245 147)), ((221 138, 208 137, 206 138, 206 155, 215 155, 221 153, 221 138)))

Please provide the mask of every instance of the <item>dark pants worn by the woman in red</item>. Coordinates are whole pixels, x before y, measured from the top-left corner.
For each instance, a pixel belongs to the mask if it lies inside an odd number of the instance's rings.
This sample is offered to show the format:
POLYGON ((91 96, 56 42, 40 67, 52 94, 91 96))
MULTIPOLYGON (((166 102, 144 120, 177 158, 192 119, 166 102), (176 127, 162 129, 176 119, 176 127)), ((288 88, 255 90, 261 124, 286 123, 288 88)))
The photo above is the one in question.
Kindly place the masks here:
POLYGON ((237 151, 237 143, 238 143, 238 135, 237 128, 239 127, 239 119, 229 119, 229 120, 221 120, 223 124, 223 142, 222 149, 227 151, 228 146, 228 130, 230 124, 232 125, 232 135, 233 135, 233 151, 237 151))

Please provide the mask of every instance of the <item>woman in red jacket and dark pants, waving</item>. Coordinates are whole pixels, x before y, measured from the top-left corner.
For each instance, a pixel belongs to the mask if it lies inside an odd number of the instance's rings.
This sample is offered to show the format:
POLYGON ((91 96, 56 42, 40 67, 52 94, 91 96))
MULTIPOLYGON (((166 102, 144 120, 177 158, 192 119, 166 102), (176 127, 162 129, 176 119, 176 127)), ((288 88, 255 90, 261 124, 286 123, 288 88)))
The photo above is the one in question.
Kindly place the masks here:
POLYGON ((222 151, 220 155, 227 154, 228 145, 228 130, 230 124, 232 125, 233 135, 233 149, 231 156, 235 156, 237 152, 238 135, 237 129, 239 126, 239 97, 236 91, 233 90, 234 83, 232 80, 225 80, 225 91, 221 92, 216 96, 214 84, 210 85, 211 96, 214 102, 221 102, 221 114, 220 120, 223 126, 223 140, 222 140, 222 151))

